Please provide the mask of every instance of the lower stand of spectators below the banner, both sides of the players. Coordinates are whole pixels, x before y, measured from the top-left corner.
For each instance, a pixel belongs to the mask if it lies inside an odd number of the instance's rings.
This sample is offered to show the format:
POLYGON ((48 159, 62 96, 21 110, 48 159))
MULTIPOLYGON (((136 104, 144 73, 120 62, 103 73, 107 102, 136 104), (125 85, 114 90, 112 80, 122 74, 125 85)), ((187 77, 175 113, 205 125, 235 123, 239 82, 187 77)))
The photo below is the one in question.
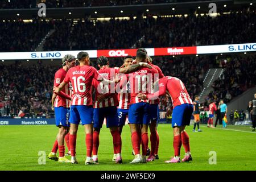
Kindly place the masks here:
MULTIPOLYGON (((205 72, 209 68, 226 68, 224 75, 212 85, 215 89, 205 98, 205 106, 211 99, 226 98, 229 92, 238 96, 247 88, 256 85, 255 55, 232 55, 216 59, 215 56, 155 56, 154 64, 162 68, 164 75, 181 78, 188 93, 193 98, 201 92, 205 72), (225 63, 226 60, 226 63, 225 63), (224 61, 224 63, 222 63, 224 61), (240 67, 240 65, 243 67, 240 67)), ((120 67, 122 59, 109 59, 110 67, 120 67)), ((96 61, 91 64, 96 67, 96 61)), ((20 61, 15 64, 0 64, 0 110, 2 115, 18 115, 22 110, 28 117, 51 117, 51 96, 54 73, 59 69, 56 65, 42 64, 42 61, 24 67, 20 61), (47 70, 47 73, 46 73, 47 70), (18 81, 16 81, 18 80, 18 81)), ((228 102, 228 100, 225 100, 228 102)), ((171 105, 171 98, 160 103, 161 111, 166 111, 171 105), (163 104, 162 104, 163 103, 163 104)))

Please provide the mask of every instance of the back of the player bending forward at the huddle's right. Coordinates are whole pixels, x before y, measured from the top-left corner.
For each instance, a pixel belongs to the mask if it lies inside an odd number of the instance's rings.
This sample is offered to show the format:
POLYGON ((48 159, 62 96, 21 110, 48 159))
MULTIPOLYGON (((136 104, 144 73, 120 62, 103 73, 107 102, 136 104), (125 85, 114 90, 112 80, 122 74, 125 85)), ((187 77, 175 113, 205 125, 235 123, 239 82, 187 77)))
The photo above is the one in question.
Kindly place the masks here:
POLYGON ((167 90, 170 93, 174 107, 181 104, 192 104, 188 91, 179 78, 168 76, 162 79, 166 80, 167 90))

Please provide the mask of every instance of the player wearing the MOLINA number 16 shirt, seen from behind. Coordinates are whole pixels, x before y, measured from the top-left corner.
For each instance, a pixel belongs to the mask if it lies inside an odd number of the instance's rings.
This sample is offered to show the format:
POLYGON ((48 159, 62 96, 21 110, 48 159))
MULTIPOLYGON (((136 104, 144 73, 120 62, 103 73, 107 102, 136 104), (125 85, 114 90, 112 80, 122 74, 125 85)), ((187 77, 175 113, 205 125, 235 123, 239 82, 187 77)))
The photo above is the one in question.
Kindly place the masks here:
POLYGON ((95 68, 90 67, 90 59, 87 52, 79 52, 77 55, 80 65, 69 69, 63 82, 58 87, 53 88, 55 92, 59 93, 65 85, 72 83, 73 94, 71 101, 71 113, 69 122, 71 123, 69 144, 71 148, 71 163, 76 164, 76 136, 80 123, 85 126, 86 133, 86 160, 85 164, 94 164, 92 160, 93 148, 93 107, 91 87, 92 81, 99 80, 106 83, 114 81, 105 80, 95 68))

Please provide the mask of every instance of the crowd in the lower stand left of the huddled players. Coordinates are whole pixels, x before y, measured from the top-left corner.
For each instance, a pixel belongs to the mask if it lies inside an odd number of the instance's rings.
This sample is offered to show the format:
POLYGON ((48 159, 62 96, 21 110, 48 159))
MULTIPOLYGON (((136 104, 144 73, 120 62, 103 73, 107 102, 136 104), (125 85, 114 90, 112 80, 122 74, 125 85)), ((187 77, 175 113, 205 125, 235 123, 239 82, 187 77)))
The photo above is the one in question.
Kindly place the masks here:
POLYGON ((0 64, 0 115, 27 117, 51 112, 53 77, 56 67, 38 63, 29 67, 17 62, 0 64))

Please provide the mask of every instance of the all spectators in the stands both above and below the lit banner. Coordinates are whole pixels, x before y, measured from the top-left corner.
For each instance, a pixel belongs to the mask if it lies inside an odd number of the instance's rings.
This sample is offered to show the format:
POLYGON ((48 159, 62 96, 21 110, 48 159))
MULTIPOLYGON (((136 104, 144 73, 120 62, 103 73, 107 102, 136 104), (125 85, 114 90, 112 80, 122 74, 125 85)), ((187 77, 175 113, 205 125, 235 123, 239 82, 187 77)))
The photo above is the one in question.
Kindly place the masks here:
MULTIPOLYGON (((0 52, 34 51, 51 29, 55 32, 46 39, 44 51, 119 49, 131 48, 134 44, 135 47, 150 48, 249 43, 256 40, 255 23, 255 13, 248 11, 215 18, 189 15, 158 16, 155 19, 148 15, 146 19, 112 18, 104 22, 67 19, 34 19, 31 23, 6 21, 0 22, 0 52), (141 38, 142 41, 138 42, 141 38)), ((164 75, 181 78, 192 99, 201 92, 205 72, 209 68, 225 68, 224 74, 214 81, 213 92, 205 98, 204 105, 207 106, 213 99, 222 98, 227 103, 255 85, 255 58, 255 54, 233 55, 225 59, 209 55, 155 56, 153 63, 162 69, 164 75)), ((122 60, 110 59, 110 65, 119 67, 122 60)), ((0 64, 0 115, 17 115, 20 110, 34 114, 51 112, 52 80, 58 68, 40 62, 30 67, 19 62, 0 64)), ((170 105, 170 100, 166 103, 161 99, 160 110, 166 111, 170 105)))

